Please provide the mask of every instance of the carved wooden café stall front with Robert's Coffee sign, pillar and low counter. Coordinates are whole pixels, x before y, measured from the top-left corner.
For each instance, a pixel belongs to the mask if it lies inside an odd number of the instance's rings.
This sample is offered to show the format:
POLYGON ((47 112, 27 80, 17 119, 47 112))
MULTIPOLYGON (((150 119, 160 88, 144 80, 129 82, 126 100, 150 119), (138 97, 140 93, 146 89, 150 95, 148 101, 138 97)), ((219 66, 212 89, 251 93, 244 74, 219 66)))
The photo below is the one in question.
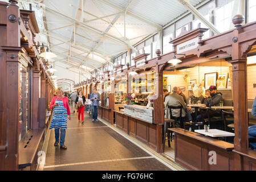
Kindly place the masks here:
MULTIPOLYGON (((192 31, 181 32, 178 38, 171 40, 174 51, 166 55, 160 56, 161 62, 170 60, 176 53, 185 54, 185 56, 177 55, 182 63, 174 65, 165 64, 163 71, 189 68, 190 65, 200 64, 217 64, 220 67, 220 61, 224 64, 222 73, 230 73, 230 88, 220 89, 224 98, 233 100, 234 110, 234 144, 217 140, 211 137, 205 137, 202 134, 192 131, 174 128, 169 129, 175 133, 175 161, 181 166, 192 170, 254 170, 255 154, 254 150, 249 149, 248 142, 248 115, 247 108, 249 100, 255 96, 251 96, 252 89, 247 86, 247 70, 251 66, 247 66, 247 53, 256 43, 255 32, 256 22, 245 24, 242 26, 244 18, 237 15, 233 18, 235 28, 222 34, 202 40, 204 28, 197 28, 192 31), (195 44, 196 46, 193 47, 195 44), (189 45, 189 46, 187 46, 189 45), (189 48, 190 47, 190 48, 189 48), (213 61, 218 60, 218 61, 213 61), (226 64, 226 62, 228 64, 226 64), (248 96, 247 96, 248 93, 248 96), (215 152, 217 158, 216 164, 210 164, 209 159, 211 152, 215 152)), ((197 67, 198 68, 198 67, 197 67)), ((201 67, 200 67, 201 68, 201 67)), ((190 68, 193 69, 193 68, 190 68)), ((219 72, 218 68, 215 72, 219 72)), ((200 70, 201 71, 201 70, 200 70)), ((208 70, 210 72, 210 70, 208 70)), ((206 71, 206 72, 208 72, 206 71)), ((205 74, 205 73, 204 73, 205 74)), ((189 73, 188 73, 189 75, 189 73)), ((193 75, 190 75, 193 77, 193 75)), ((198 73, 201 79, 201 73, 198 73)), ((217 76, 218 77, 218 76, 217 76)), ((250 77, 248 78, 250 79, 250 77)), ((177 79, 178 80, 178 79, 177 79)), ((174 80, 174 81, 177 81, 174 80)), ((201 80, 198 80, 201 82, 201 80)), ((206 81, 206 80, 204 80, 206 81)), ((180 85, 182 81, 176 82, 174 86, 184 86, 188 89, 188 85, 180 85)), ((207 84, 207 83, 205 83, 207 84)), ((205 85, 204 84, 204 85, 205 85)), ((191 89, 191 88, 190 88, 191 89)), ((208 88, 206 88, 208 89, 208 88)), ((189 94, 190 90, 186 93, 189 94)))

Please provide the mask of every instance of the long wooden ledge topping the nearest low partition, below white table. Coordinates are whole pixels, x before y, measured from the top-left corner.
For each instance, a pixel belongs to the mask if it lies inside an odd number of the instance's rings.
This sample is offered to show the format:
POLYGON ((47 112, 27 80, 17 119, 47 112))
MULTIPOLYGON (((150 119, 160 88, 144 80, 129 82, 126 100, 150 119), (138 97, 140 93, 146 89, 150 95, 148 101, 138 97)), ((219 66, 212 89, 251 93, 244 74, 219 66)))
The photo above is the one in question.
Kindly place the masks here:
POLYGON ((213 146, 223 148, 224 150, 227 150, 227 151, 232 151, 234 149, 234 144, 232 144, 232 143, 227 143, 222 140, 218 140, 218 139, 211 138, 211 137, 206 137, 202 134, 194 133, 192 131, 184 130, 184 129, 181 129, 178 127, 171 128, 168 130, 173 131, 178 134, 181 134, 181 135, 185 135, 186 137, 189 137, 189 138, 200 140, 201 142, 212 144, 213 146))

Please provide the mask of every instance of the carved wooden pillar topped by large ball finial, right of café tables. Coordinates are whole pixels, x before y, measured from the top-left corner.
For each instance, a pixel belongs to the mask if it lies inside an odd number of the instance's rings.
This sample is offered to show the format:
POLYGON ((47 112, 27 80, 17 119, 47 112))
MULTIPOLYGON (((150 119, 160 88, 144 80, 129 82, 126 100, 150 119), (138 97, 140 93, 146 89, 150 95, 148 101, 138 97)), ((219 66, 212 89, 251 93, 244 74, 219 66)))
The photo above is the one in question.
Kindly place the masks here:
MULTIPOLYGON (((234 102, 234 150, 243 152, 248 149, 248 115, 247 115, 247 60, 242 55, 239 34, 243 32, 242 23, 245 20, 242 15, 233 18, 235 30, 233 31, 232 64, 233 73, 233 102, 234 102)), ((234 155, 235 170, 242 169, 242 159, 238 154, 234 155)))

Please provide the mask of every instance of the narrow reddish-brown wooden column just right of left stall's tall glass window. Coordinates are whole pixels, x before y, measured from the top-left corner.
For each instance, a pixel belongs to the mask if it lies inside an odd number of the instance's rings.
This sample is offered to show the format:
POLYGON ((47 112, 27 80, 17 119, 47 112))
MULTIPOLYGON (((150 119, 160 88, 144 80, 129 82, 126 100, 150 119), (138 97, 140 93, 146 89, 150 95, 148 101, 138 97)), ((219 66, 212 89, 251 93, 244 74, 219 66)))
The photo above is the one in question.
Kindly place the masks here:
POLYGON ((38 129, 39 72, 40 71, 34 66, 32 70, 32 90, 31 90, 32 129, 38 129))

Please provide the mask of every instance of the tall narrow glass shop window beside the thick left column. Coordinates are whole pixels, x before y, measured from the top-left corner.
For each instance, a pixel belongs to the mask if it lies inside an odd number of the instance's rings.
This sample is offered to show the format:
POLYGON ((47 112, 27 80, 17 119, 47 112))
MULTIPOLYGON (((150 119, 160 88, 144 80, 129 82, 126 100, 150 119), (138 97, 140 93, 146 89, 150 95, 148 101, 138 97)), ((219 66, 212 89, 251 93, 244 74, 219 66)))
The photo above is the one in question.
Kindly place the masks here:
POLYGON ((21 72, 19 83, 19 141, 21 141, 29 129, 29 67, 21 64, 19 70, 21 72))

